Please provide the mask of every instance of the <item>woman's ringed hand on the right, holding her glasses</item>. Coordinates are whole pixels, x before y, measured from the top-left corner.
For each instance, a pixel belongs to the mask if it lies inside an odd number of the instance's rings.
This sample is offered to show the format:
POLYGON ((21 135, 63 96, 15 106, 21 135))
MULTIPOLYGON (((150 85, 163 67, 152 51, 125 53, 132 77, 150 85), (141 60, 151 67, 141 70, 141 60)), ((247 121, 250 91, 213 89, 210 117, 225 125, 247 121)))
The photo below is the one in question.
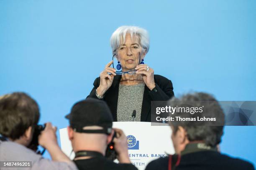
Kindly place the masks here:
POLYGON ((146 86, 152 90, 156 87, 156 83, 154 80, 154 70, 146 64, 140 64, 135 68, 136 74, 141 74, 143 81, 145 82, 146 86))

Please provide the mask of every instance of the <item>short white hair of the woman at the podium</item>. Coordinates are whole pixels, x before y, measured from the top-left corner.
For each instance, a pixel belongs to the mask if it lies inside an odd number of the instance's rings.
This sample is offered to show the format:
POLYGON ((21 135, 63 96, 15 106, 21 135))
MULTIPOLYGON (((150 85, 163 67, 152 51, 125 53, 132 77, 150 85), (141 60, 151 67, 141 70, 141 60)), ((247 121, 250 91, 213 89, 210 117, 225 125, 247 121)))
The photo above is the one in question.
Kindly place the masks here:
POLYGON ((121 43, 125 42, 125 36, 127 33, 131 34, 131 38, 133 36, 138 36, 140 39, 140 45, 141 47, 146 50, 146 53, 149 50, 149 35, 148 31, 136 27, 136 26, 121 26, 115 32, 113 32, 111 38, 110 38, 110 45, 112 47, 112 53, 115 54, 116 50, 122 45, 121 43))

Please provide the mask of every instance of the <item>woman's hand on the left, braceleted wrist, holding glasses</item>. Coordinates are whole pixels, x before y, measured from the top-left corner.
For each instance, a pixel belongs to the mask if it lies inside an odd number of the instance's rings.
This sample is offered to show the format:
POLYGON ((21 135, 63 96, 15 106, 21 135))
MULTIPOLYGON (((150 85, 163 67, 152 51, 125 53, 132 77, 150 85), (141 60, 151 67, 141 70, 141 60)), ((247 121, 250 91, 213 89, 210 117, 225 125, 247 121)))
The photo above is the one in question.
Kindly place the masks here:
POLYGON ((112 85, 112 82, 114 80, 114 76, 116 75, 115 69, 110 67, 112 63, 113 63, 113 60, 110 61, 105 66, 105 69, 100 73, 100 86, 97 88, 97 93, 100 96, 103 96, 105 92, 109 89, 109 87, 112 85))

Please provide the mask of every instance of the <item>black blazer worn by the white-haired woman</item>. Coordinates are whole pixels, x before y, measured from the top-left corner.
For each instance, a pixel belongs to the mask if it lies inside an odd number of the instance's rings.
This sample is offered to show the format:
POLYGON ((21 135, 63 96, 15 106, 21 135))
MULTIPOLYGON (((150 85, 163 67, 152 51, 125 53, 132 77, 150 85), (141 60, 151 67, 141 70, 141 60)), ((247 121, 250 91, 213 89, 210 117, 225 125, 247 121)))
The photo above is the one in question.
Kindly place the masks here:
MULTIPOLYGON (((118 90, 119 83, 121 80, 121 75, 116 75, 114 77, 111 87, 105 92, 103 99, 110 107, 113 115, 113 119, 117 121, 117 102, 118 102, 118 90)), ((151 101, 166 101, 174 96, 173 86, 171 80, 161 75, 154 75, 154 80, 156 83, 156 89, 152 91, 148 89, 145 85, 143 102, 141 108, 141 122, 151 122, 151 101)), ((97 98, 95 90, 100 85, 100 77, 97 77, 93 83, 94 87, 87 97, 97 98)), ((131 113, 132 114, 132 113, 131 113)))

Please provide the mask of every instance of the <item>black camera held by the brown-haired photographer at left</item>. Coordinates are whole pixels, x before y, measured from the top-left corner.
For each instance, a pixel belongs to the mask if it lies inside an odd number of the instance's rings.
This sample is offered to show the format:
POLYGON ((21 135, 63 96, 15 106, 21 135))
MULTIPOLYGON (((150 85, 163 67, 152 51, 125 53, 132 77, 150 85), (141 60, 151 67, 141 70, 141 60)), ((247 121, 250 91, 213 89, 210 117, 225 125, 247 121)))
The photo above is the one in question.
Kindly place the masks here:
POLYGON ((45 128, 45 124, 35 126, 34 133, 33 133, 33 138, 31 140, 30 145, 28 146, 28 148, 34 150, 36 153, 41 154, 41 155, 44 154, 45 148, 44 148, 43 151, 40 151, 38 149, 38 145, 39 145, 38 136, 41 134, 41 132, 44 130, 44 128, 45 128))

